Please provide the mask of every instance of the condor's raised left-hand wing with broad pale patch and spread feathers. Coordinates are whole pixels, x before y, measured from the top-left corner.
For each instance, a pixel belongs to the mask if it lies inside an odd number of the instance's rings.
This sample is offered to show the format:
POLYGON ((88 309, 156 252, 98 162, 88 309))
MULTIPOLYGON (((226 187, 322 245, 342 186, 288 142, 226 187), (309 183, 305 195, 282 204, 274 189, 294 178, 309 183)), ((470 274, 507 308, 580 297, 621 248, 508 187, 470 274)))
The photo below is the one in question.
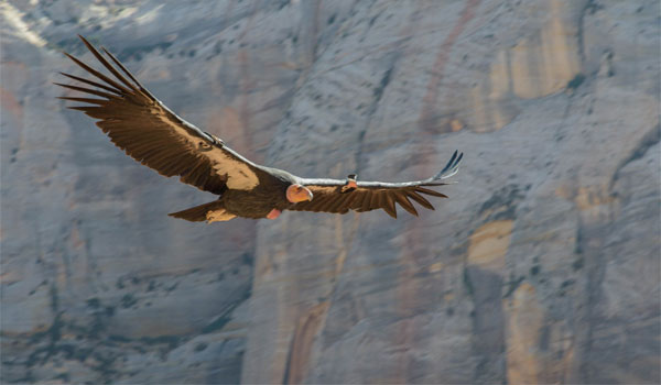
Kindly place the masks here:
POLYGON ((101 50, 117 67, 85 37, 79 37, 116 79, 65 53, 96 78, 61 74, 95 88, 56 85, 100 98, 66 96, 61 99, 87 103, 69 108, 99 119, 96 124, 115 145, 162 175, 178 175, 183 183, 214 194, 221 194, 226 188, 250 190, 260 183, 263 177, 260 166, 226 146, 218 138, 177 117, 106 48, 101 50))

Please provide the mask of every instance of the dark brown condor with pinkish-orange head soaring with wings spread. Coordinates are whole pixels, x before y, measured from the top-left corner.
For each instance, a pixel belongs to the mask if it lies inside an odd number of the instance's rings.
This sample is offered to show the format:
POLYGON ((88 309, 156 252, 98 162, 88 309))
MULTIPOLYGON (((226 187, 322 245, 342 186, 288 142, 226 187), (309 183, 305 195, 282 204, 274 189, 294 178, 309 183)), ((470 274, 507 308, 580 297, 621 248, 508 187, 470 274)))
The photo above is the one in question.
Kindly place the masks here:
POLYGON ((113 78, 65 53, 94 78, 61 73, 79 84, 56 85, 83 92, 86 97, 65 96, 59 99, 85 103, 68 108, 98 119, 96 124, 101 131, 133 160, 161 175, 178 176, 181 182, 218 196, 212 202, 170 213, 172 217, 216 222, 236 217, 275 219, 284 210, 346 213, 350 210, 383 209, 397 218, 395 204, 418 216, 412 201, 433 210, 424 195, 447 196, 429 187, 446 185, 444 179, 458 170, 463 154, 456 151, 447 165, 433 177, 407 183, 362 182, 355 174, 346 179, 302 178, 283 169, 256 164, 231 150, 218 136, 172 112, 110 52, 101 47, 106 58, 85 37, 78 36, 113 78))

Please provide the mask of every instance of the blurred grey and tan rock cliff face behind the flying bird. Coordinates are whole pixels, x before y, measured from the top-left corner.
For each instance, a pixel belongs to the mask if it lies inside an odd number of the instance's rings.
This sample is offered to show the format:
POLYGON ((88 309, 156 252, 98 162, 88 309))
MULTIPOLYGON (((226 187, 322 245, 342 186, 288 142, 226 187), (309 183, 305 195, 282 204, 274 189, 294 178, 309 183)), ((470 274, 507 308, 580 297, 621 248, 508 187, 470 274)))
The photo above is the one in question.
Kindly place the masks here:
POLYGON ((0 4, 2 383, 659 383, 659 2, 0 4), (55 99, 102 43, 302 176, 451 199, 195 224, 55 99), (402 210, 400 210, 402 211, 402 210))

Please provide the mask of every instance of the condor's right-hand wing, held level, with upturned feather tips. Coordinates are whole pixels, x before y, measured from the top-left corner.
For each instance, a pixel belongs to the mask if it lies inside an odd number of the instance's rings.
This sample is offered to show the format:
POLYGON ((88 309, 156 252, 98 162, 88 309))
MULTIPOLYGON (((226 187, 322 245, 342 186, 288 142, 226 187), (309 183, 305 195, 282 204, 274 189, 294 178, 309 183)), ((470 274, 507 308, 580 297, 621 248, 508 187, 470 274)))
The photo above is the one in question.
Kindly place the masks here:
POLYGON ((350 178, 345 180, 303 178, 301 184, 312 191, 314 198, 312 201, 295 204, 288 210, 346 213, 349 210, 362 212, 383 209, 392 218, 397 218, 395 204, 399 204, 404 210, 418 217, 418 210, 411 200, 426 209, 434 210, 434 206, 423 195, 447 198, 446 195, 429 187, 447 185, 443 180, 458 172, 463 156, 463 153, 457 154, 455 151, 447 165, 438 174, 416 182, 357 182, 355 186, 351 186, 350 178))

